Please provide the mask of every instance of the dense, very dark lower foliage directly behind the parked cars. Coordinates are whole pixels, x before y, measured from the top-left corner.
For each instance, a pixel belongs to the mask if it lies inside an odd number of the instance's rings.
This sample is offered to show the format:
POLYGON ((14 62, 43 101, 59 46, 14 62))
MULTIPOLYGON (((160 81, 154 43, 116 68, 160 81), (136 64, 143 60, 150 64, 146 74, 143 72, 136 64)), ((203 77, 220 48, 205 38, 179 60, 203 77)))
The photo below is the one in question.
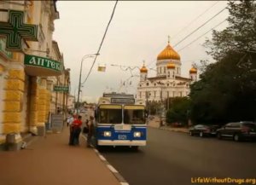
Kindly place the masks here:
POLYGON ((191 119, 217 124, 256 119, 256 56, 230 52, 191 85, 191 119))

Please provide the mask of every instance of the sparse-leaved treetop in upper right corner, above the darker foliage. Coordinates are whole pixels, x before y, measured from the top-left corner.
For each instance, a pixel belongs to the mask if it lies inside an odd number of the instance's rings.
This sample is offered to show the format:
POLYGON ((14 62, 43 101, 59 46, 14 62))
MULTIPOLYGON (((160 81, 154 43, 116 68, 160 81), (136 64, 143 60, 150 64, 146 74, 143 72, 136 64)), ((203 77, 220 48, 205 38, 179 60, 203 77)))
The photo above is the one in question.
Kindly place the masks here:
POLYGON ((230 50, 244 53, 256 51, 256 3, 253 0, 229 1, 229 26, 223 31, 212 32, 207 39, 207 54, 216 61, 221 60, 230 50))

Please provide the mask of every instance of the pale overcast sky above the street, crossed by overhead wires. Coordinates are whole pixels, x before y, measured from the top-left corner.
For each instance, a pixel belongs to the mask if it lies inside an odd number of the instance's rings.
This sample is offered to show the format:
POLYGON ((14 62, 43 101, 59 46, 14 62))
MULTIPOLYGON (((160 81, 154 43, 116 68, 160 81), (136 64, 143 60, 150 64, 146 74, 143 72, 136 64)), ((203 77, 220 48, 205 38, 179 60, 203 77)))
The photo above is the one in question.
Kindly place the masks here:
MULTIPOLYGON (((115 1, 57 2, 60 19, 55 20, 54 39, 59 43, 64 55, 65 67, 71 69, 72 95, 75 91, 78 92, 81 59, 84 55, 95 54, 98 50, 114 3, 115 1)), ((225 1, 119 1, 100 55, 81 89, 83 100, 95 101, 104 91, 110 90, 134 94, 138 78, 131 78, 130 70, 123 71, 125 67, 122 67, 122 70, 119 66, 111 65, 143 66, 145 61, 148 68, 153 68, 149 70, 148 76, 154 77, 156 57, 166 48, 168 35, 171 37, 171 45, 174 46, 226 5, 225 1), (201 17, 195 20, 199 15, 201 17), (184 27, 186 29, 183 29, 184 27), (105 65, 106 72, 97 71, 98 66, 105 65), (126 80, 128 78, 130 79, 126 80), (125 87, 121 87, 121 82, 125 80, 125 87)), ((193 62, 205 59, 212 61, 202 46, 206 38, 211 38, 212 32, 182 48, 218 25, 227 16, 226 9, 174 47, 181 56, 183 77, 189 77, 193 62)), ((216 30, 223 30, 225 26, 226 22, 216 30)), ((82 82, 92 63, 93 58, 84 60, 82 82)), ((139 70, 134 69, 132 74, 139 75, 139 70)))

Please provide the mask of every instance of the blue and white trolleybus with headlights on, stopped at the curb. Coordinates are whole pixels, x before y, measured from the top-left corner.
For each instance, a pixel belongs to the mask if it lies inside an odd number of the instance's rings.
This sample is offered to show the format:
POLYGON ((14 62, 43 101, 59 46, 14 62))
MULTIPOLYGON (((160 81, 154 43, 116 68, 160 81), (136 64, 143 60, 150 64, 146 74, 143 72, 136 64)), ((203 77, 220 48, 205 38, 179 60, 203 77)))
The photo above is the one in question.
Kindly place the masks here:
POLYGON ((104 93, 96 106, 96 146, 146 146, 145 101, 104 93))

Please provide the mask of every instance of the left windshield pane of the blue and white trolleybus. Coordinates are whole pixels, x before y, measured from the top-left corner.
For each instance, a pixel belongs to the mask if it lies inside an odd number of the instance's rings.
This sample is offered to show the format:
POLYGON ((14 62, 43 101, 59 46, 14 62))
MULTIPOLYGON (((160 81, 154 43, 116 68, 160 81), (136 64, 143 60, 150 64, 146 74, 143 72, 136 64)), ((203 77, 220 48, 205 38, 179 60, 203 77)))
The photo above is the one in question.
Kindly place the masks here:
POLYGON ((122 106, 120 105, 101 105, 99 107, 100 124, 121 124, 122 106))

